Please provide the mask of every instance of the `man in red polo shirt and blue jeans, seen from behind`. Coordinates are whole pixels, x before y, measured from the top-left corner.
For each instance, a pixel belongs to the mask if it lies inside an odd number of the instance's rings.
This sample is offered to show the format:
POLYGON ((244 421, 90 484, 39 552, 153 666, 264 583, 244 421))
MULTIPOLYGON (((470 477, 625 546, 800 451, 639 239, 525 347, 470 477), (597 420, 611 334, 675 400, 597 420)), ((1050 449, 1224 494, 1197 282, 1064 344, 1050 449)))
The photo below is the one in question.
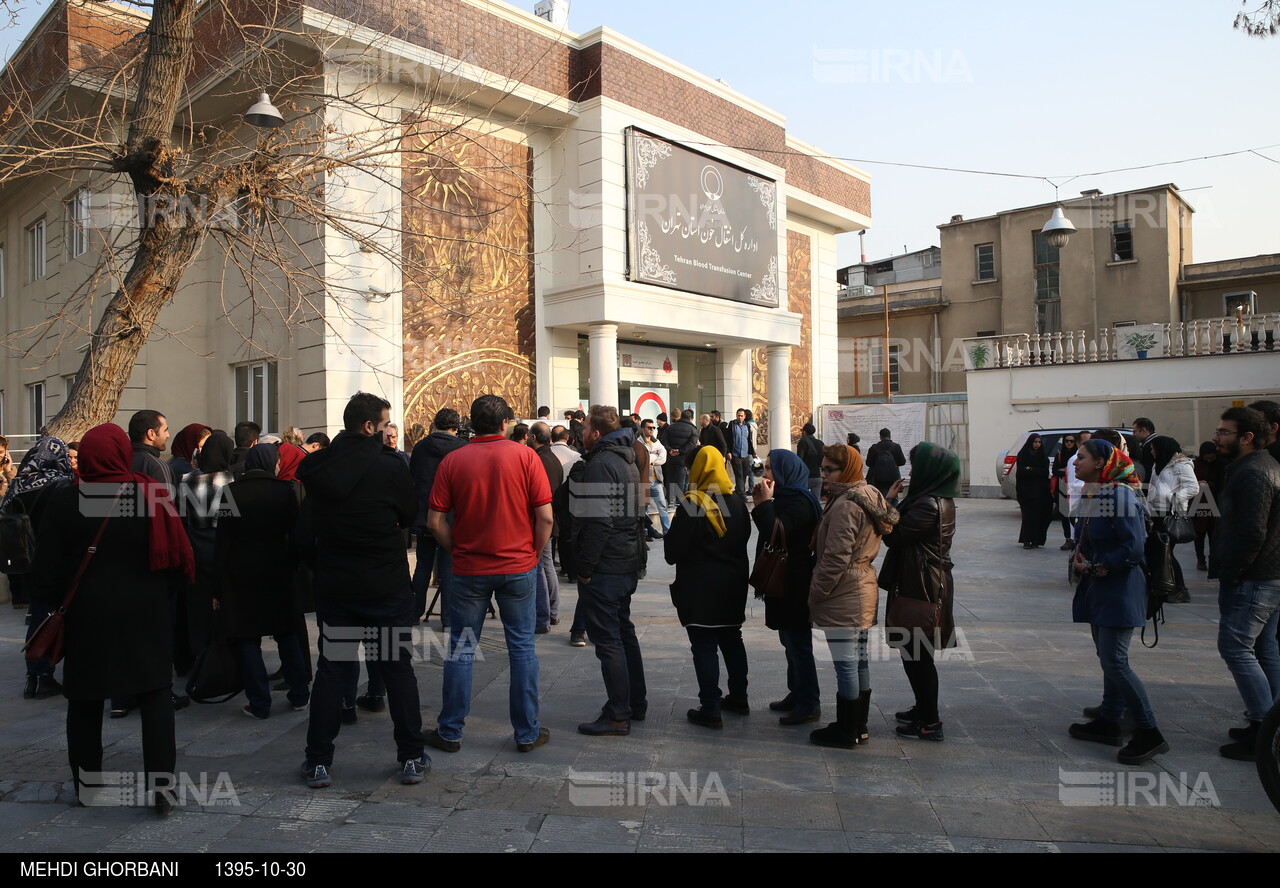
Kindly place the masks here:
POLYGON ((476 398, 471 404, 476 436, 444 457, 431 488, 426 526, 452 553, 454 580, 444 700, 439 727, 426 734, 426 742, 445 752, 462 749, 462 725, 471 711, 471 665, 492 595, 507 636, 516 749, 529 752, 550 740, 538 723, 534 572, 552 536, 552 491, 538 454, 507 439, 515 417, 498 395, 476 398))

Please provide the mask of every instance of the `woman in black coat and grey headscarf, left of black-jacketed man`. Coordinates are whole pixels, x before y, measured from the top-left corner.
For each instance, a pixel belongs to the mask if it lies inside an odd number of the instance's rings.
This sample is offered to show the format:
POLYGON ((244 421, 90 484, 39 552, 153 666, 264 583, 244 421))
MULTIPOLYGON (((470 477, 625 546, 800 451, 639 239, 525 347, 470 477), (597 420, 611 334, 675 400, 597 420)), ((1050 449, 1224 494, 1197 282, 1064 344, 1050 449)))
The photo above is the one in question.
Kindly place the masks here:
POLYGON ((221 631, 234 638, 244 676, 244 714, 271 714, 271 688, 262 664, 262 636, 275 636, 289 686, 289 705, 307 708, 311 690, 296 626, 293 539, 298 498, 275 476, 279 450, 257 444, 244 457, 244 475, 228 490, 232 514, 218 521, 215 608, 221 631))

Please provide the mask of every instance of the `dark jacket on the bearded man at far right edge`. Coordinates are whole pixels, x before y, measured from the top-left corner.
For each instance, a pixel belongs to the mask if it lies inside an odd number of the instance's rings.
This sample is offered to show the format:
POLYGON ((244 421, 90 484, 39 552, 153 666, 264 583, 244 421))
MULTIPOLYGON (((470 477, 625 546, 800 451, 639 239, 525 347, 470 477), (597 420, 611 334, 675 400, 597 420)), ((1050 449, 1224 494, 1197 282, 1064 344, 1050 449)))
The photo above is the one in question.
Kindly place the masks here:
POLYGON ((1210 578, 1224 586, 1280 580, 1280 463, 1254 450, 1226 467, 1222 517, 1210 549, 1210 578))

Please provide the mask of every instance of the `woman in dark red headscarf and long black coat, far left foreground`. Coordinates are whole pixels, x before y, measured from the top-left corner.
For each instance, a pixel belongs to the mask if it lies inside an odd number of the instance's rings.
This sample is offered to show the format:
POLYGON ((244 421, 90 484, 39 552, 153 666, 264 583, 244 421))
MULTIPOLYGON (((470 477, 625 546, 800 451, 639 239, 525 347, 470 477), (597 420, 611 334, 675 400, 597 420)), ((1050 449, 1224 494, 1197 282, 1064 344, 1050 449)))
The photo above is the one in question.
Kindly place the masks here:
POLYGON ((166 815, 177 759, 169 599, 195 577, 191 543, 168 489, 131 471, 123 429, 96 426, 79 444, 79 481, 52 493, 37 541, 49 566, 37 581, 54 607, 83 567, 65 618, 67 755, 77 795, 86 792, 86 772, 102 770, 102 704, 134 697, 147 788, 166 815))

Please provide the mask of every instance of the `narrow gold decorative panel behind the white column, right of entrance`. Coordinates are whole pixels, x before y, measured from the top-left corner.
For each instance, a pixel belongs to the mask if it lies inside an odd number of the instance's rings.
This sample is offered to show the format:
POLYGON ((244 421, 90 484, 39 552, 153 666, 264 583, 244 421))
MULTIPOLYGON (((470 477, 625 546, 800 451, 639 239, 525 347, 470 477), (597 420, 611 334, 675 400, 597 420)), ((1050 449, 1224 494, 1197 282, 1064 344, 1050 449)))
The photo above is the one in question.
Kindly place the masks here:
MULTIPOLYGON (((800 344, 791 348, 791 443, 813 418, 813 246, 806 234, 787 232, 787 308, 800 315, 800 344)), ((751 412, 760 424, 762 441, 769 440, 768 352, 751 352, 751 412)))

